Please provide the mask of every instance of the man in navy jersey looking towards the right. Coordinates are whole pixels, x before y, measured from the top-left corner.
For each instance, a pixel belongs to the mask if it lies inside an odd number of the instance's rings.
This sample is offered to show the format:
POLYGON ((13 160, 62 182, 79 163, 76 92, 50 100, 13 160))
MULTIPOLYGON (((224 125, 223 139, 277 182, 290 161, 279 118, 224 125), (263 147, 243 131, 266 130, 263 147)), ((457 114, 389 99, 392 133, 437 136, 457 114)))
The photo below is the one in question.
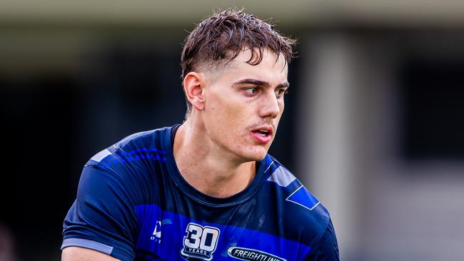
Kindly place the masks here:
POLYGON ((267 155, 294 41, 242 11, 187 37, 182 125, 85 165, 64 221, 69 260, 338 260, 328 212, 267 155))

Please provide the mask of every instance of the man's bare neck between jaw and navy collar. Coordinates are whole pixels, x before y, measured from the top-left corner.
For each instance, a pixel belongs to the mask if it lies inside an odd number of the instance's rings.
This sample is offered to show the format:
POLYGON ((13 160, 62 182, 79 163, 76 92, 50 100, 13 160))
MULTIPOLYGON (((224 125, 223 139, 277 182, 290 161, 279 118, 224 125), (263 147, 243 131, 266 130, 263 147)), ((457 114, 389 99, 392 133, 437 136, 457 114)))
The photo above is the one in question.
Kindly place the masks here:
POLYGON ((227 198, 244 190, 256 175, 256 162, 234 160, 187 120, 176 131, 173 154, 183 178, 201 193, 227 198))

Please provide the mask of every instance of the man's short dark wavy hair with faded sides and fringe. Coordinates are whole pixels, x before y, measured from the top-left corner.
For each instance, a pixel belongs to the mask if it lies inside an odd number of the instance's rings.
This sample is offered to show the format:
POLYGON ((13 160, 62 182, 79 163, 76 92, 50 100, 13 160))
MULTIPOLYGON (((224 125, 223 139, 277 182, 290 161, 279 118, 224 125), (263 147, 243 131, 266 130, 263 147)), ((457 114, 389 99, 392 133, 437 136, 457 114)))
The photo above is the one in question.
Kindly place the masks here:
MULTIPOLYGON (((286 63, 294 57, 294 39, 278 33, 272 24, 258 19, 243 10, 217 11, 201 21, 184 42, 181 66, 183 79, 191 71, 206 71, 226 66, 243 49, 251 50, 247 63, 257 65, 263 59, 263 51, 276 53, 276 61, 282 54, 286 63)), ((191 103, 187 101, 187 114, 191 103)))

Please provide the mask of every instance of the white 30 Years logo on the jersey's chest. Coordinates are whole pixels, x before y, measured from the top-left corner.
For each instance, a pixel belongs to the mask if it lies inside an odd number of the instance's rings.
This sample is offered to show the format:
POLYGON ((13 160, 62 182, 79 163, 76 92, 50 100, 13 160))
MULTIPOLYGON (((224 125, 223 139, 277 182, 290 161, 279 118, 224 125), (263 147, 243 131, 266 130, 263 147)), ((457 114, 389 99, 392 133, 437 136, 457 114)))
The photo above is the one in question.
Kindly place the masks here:
POLYGON ((189 223, 183 237, 181 255, 186 260, 211 260, 218 244, 219 230, 216 227, 189 223))

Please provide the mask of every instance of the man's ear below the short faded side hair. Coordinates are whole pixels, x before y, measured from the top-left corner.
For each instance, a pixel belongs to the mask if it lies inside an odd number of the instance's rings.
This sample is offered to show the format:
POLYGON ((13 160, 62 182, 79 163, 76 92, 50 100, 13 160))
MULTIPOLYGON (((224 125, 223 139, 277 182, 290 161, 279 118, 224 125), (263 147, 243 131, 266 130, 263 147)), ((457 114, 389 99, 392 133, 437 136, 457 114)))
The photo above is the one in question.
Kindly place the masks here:
POLYGON ((203 111, 205 97, 203 96, 205 78, 200 73, 190 72, 183 78, 183 91, 187 100, 198 111, 203 111))

